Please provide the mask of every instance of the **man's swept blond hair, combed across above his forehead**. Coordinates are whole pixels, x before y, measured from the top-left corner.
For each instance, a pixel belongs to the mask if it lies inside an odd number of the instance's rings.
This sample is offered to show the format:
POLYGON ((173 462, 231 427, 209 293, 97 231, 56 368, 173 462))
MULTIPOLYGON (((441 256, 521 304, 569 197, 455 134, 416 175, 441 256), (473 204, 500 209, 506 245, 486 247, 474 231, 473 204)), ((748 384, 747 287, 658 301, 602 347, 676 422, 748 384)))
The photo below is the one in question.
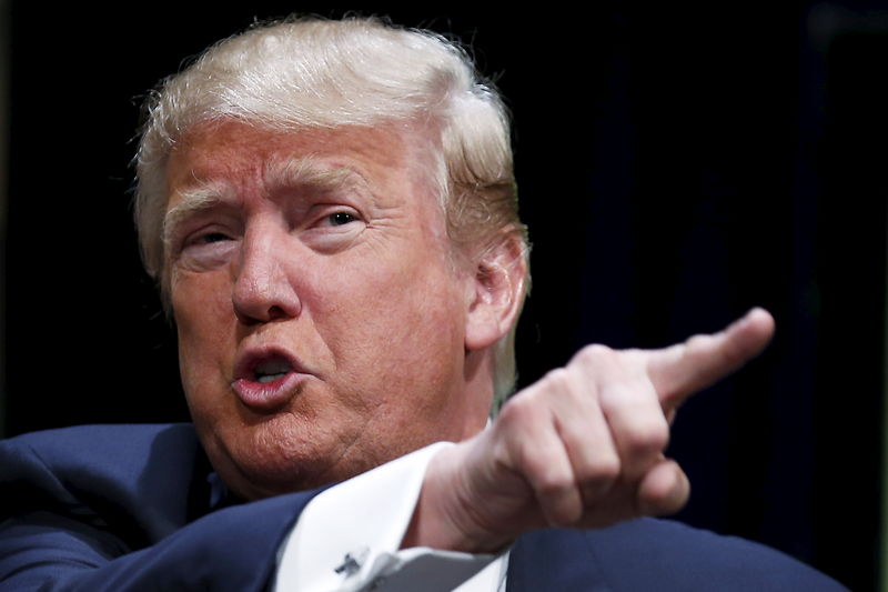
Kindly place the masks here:
MULTIPOLYGON (((526 245, 508 117, 465 51, 435 33, 379 19, 293 18, 212 46, 147 101, 135 221, 145 269, 168 309, 167 162, 194 124, 231 119, 294 131, 421 122, 440 133, 428 180, 453 244, 486 249, 517 233, 526 245)), ((501 401, 514 388, 514 328, 496 344, 494 364, 501 401)))

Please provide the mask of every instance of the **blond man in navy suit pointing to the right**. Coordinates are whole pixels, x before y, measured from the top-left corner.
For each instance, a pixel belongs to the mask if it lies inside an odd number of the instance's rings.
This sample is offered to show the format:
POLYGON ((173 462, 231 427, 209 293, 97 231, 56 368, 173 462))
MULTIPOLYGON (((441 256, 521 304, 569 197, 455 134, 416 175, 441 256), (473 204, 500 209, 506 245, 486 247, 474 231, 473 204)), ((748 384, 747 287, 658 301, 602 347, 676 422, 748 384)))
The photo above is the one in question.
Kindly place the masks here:
POLYGON ((764 311, 586 348, 488 420, 527 248, 500 99, 441 38, 229 39, 153 98, 138 178, 194 425, 4 443, 3 589, 839 589, 632 520, 684 505, 669 422, 765 347, 764 311))

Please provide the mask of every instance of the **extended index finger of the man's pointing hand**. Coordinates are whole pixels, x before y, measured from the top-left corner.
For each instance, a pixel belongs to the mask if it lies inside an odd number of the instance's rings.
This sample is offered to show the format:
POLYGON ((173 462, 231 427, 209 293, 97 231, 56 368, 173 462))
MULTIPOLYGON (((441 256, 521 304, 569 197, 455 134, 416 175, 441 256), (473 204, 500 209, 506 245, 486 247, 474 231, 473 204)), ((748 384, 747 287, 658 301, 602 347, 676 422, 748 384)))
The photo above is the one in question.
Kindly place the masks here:
POLYGON ((648 351, 647 372, 666 410, 743 367, 774 334, 774 318, 755 308, 718 333, 694 335, 684 343, 648 351))

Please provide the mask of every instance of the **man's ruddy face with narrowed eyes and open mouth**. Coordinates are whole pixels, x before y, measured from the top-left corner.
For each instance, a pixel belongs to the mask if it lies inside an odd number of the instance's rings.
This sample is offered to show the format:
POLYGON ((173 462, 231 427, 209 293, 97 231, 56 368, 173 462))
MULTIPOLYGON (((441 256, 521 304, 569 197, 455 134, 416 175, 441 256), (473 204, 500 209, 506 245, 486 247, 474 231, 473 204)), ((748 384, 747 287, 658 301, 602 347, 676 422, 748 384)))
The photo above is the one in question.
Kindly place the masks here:
POLYGON ((182 381, 241 495, 339 481, 483 427, 490 400, 464 375, 473 274, 451 253, 422 140, 226 122, 173 152, 182 381))

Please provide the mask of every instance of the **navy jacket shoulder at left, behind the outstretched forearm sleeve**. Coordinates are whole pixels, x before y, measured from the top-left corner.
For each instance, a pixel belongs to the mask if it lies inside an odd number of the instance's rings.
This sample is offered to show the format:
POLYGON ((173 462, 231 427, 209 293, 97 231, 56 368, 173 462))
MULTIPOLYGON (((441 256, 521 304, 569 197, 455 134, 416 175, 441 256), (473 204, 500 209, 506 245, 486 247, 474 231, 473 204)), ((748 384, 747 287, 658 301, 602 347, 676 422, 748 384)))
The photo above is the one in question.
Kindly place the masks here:
MULTIPOLYGON (((201 510, 203 452, 190 424, 82 425, 0 441, 0 519, 53 510, 159 540, 201 510)), ((206 503, 205 505, 209 505, 206 503)), ((203 510, 205 511, 205 509, 203 510)))

